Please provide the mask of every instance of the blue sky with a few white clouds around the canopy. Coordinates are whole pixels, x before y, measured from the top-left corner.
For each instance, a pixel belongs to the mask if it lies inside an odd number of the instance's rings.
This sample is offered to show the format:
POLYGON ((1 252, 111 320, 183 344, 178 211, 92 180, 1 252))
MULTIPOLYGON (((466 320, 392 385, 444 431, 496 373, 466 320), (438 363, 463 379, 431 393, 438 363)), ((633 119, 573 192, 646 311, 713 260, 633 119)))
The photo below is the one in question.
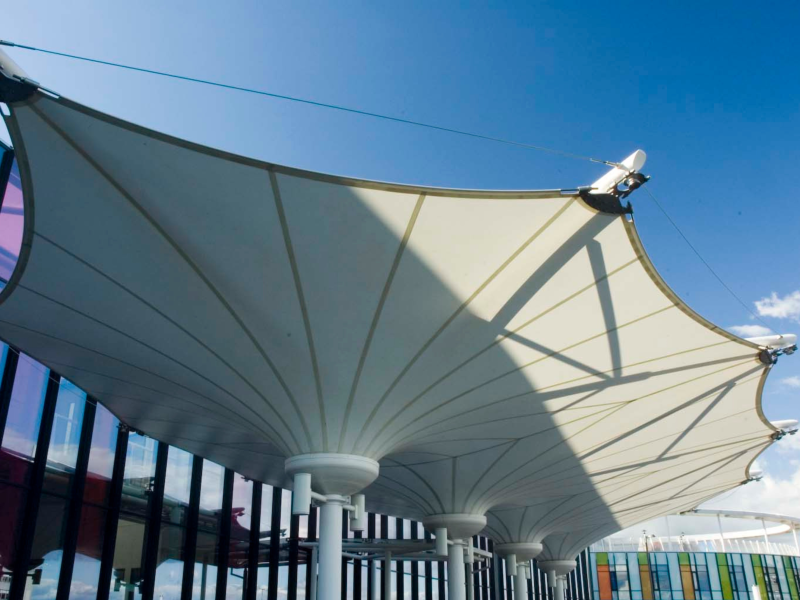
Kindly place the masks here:
MULTIPOLYGON (((3 8, 0 38, 608 160, 643 148, 650 189, 706 260, 771 328, 796 332, 800 4, 695 4, 17 2, 3 8)), ((252 94, 8 52, 65 96, 280 164, 516 189, 575 187, 605 170, 252 94)), ((690 306, 724 327, 759 325, 649 196, 640 191, 632 201, 656 267, 690 306)), ((800 416, 799 397, 800 356, 784 358, 764 394, 767 417, 800 416)), ((764 485, 748 486, 725 504, 763 507, 779 492, 789 496, 775 509, 800 516, 796 438, 764 455, 764 485)))

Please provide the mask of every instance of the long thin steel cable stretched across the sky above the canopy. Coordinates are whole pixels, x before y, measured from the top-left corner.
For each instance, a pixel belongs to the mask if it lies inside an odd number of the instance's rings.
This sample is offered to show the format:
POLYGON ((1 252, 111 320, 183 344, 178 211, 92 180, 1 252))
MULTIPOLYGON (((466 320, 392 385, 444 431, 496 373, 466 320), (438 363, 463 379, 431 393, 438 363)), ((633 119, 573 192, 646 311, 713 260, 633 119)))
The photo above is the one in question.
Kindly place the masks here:
POLYGON ((198 79, 196 77, 188 77, 186 75, 177 75, 175 73, 166 73, 164 71, 155 71, 153 69, 145 69, 142 67, 134 67, 132 65, 125 65, 122 63, 111 62, 107 60, 100 60, 97 58, 89 58, 87 56, 78 56, 76 54, 68 54, 66 52, 57 52, 55 50, 46 50, 44 48, 35 48, 33 46, 26 46, 24 44, 16 44, 14 42, 9 42, 7 40, 0 40, 0 46, 9 46, 13 48, 22 48, 23 50, 32 50, 34 52, 42 52, 44 54, 52 54, 53 56, 61 56, 64 58, 72 58, 74 60, 82 60, 85 62, 96 63, 100 65, 106 65, 109 67, 117 67, 119 69, 127 69, 129 71, 137 71, 139 73, 149 73, 150 75, 160 75, 161 77, 169 77, 171 79, 179 79, 182 81, 190 81, 192 83, 202 83, 204 85, 211 85, 214 87, 224 88, 228 90, 235 90, 237 92, 247 92, 249 94, 257 94, 259 96, 267 96, 269 98, 277 98, 279 100, 288 100, 290 102, 299 102, 301 104, 308 104, 310 106, 316 106, 318 108, 329 108, 331 110, 338 110, 342 112, 348 112, 356 115, 362 115, 365 117, 373 117, 376 119, 383 119, 385 121, 393 121, 395 123, 403 123, 405 125, 414 125, 415 127, 423 127, 425 129, 433 129, 435 131, 443 131, 445 133, 452 133, 455 135, 463 135, 466 137, 471 137, 479 140, 487 140, 490 142, 497 142, 500 144, 508 144, 510 146, 517 146, 519 148, 527 148, 529 150, 539 150, 541 152, 548 152, 550 154, 556 154, 558 156, 564 156, 566 158, 575 158, 578 160, 586 160, 589 162, 600 163, 604 165, 609 165, 611 167, 619 167, 620 164, 610 161, 610 160, 603 160, 600 158, 592 158, 591 156, 584 156, 582 154, 575 154, 573 152, 566 152, 564 150, 558 150, 555 148, 547 148, 545 146, 537 146, 535 144, 528 144, 525 142, 517 142, 515 140, 509 140, 506 138, 499 138, 491 135, 484 135, 481 133, 474 133, 471 131, 466 131, 463 129, 454 129, 451 127, 443 127, 441 125, 434 125, 432 123, 425 123, 422 121, 413 121, 411 119, 403 119, 400 117, 393 117, 391 115, 384 115, 380 113, 370 112, 366 110, 360 110, 357 108, 350 108, 347 106, 341 106, 338 104, 330 104, 327 102, 318 102, 316 100, 308 100, 307 98, 298 98, 296 96, 287 96, 285 94, 278 94, 275 92, 267 92, 264 90, 257 90, 254 88, 248 88, 238 85, 231 85, 227 83, 220 83, 218 81, 210 81, 207 79, 198 79))

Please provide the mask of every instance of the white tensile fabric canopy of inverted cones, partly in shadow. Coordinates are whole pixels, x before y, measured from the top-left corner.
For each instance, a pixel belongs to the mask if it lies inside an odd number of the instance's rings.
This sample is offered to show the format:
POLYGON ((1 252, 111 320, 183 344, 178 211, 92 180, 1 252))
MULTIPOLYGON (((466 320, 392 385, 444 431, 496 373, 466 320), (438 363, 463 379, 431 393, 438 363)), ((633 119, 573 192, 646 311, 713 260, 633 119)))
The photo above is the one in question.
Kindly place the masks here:
POLYGON ((290 456, 369 457, 369 508, 492 511, 498 541, 570 552, 739 485, 772 441, 759 348, 575 191, 320 175, 41 92, 7 122, 0 337, 159 440, 279 485, 290 456))

